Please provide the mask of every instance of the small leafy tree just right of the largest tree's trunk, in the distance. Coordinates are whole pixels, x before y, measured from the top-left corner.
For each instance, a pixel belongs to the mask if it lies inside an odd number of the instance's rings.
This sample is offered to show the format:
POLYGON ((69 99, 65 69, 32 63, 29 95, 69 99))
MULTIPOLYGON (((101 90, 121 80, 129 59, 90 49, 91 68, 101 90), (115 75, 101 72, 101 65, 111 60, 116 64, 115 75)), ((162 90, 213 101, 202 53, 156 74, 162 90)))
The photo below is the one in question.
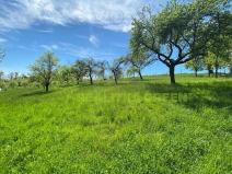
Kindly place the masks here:
POLYGON ((204 58, 202 57, 197 57, 194 58, 193 60, 186 62, 185 67, 187 69, 192 69, 195 72, 195 77, 198 76, 198 71, 204 70, 204 58))

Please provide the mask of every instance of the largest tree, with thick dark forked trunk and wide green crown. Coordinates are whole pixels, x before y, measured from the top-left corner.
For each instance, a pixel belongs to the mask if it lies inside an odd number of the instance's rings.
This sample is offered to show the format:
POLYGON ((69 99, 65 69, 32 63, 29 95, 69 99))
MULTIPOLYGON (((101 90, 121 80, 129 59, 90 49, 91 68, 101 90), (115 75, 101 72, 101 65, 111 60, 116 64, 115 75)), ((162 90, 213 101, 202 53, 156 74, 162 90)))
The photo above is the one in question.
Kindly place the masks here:
POLYGON ((132 21, 131 49, 147 49, 170 69, 175 83, 175 67, 206 50, 211 13, 220 11, 223 0, 171 1, 160 13, 144 9, 132 21))

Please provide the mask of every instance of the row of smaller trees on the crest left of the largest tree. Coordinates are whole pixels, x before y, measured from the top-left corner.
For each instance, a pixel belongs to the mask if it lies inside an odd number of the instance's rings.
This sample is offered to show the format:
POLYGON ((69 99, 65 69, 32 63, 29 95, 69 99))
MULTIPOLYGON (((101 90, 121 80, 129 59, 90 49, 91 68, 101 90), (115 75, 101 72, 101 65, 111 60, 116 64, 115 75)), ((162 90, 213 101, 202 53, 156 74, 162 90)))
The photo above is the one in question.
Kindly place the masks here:
POLYGON ((140 55, 134 57, 127 55, 115 59, 113 62, 106 60, 96 61, 93 58, 78 59, 71 66, 58 66, 58 58, 50 51, 45 53, 39 57, 34 65, 30 67, 31 79, 40 82, 46 91, 48 91, 51 79, 58 79, 62 82, 69 83, 71 79, 76 79, 79 84, 83 79, 89 79, 93 84, 94 77, 106 80, 106 73, 109 72, 115 83, 123 76, 125 67, 128 68, 128 73, 138 73, 142 80, 142 69, 152 63, 155 59, 150 55, 140 55))

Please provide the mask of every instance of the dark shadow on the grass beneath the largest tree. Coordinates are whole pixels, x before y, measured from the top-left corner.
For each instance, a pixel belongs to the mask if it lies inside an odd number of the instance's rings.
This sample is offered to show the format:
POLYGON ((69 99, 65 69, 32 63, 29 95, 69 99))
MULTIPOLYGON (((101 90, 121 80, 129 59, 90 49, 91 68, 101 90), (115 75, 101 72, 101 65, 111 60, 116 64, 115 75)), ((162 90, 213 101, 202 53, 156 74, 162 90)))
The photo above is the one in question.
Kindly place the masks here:
POLYGON ((147 84, 147 90, 165 94, 170 102, 176 102, 190 109, 204 107, 232 111, 232 82, 186 83, 186 84, 147 84))

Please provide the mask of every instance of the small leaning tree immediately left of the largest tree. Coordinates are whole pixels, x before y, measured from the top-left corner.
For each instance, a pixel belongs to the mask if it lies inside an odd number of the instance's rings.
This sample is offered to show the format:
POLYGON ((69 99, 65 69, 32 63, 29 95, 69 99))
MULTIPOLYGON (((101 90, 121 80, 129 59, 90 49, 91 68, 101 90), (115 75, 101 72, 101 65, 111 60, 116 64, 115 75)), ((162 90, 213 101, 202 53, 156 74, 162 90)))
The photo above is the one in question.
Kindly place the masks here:
POLYGON ((130 70, 135 70, 139 74, 140 80, 143 80, 141 73, 142 69, 151 65, 154 59, 153 57, 151 57, 150 54, 141 50, 134 50, 134 53, 125 58, 126 65, 130 65, 134 67, 134 69, 130 70))

